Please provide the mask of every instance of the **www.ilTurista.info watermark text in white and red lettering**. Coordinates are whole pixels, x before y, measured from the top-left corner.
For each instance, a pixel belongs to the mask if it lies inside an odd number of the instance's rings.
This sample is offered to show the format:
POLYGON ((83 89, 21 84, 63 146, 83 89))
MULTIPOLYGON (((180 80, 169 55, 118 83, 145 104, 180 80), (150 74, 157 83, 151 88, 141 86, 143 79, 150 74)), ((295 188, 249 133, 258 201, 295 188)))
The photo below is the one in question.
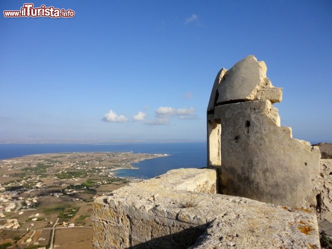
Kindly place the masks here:
POLYGON ((33 3, 24 3, 20 10, 3 10, 4 17, 74 17, 75 11, 68 8, 67 10, 54 8, 53 6, 33 7, 33 3))

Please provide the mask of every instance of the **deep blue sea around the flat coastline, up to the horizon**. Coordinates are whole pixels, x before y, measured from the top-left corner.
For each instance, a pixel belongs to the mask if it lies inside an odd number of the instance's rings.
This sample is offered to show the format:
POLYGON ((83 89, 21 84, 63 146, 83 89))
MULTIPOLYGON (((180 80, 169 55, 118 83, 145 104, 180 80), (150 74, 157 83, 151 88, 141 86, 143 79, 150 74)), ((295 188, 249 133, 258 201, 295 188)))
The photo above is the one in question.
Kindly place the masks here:
POLYGON ((206 166, 206 142, 113 143, 113 144, 0 144, 0 159, 63 152, 133 152, 167 154, 132 164, 138 169, 119 169, 118 177, 149 179, 177 168, 206 166))

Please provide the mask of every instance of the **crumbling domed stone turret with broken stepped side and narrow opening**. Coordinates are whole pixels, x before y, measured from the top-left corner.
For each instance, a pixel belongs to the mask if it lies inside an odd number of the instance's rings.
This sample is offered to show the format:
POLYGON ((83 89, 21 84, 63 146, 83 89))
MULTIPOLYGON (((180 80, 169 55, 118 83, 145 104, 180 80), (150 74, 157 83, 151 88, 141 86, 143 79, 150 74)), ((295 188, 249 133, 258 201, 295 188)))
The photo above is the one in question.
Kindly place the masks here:
POLYGON ((207 108, 208 167, 217 169, 221 194, 315 207, 319 148, 280 126, 273 104, 281 102, 282 88, 272 86, 266 71, 249 55, 217 74, 207 108))

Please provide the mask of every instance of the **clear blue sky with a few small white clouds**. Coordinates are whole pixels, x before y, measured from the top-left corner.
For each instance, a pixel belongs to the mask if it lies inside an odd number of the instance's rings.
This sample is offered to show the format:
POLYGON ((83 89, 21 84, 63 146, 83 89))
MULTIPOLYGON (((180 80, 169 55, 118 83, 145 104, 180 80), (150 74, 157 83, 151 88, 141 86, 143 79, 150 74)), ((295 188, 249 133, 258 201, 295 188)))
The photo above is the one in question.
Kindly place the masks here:
POLYGON ((249 54, 283 87, 282 125, 332 141, 331 0, 36 0, 75 17, 3 16, 24 3, 0 1, 0 142, 204 140, 217 72, 249 54))

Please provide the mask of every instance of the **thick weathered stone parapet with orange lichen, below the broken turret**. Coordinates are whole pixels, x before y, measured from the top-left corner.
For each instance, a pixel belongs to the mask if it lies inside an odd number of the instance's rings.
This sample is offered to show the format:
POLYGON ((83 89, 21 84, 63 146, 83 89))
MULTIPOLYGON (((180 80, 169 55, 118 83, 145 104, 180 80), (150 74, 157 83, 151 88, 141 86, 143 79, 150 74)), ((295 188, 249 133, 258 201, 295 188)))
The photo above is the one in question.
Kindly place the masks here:
POLYGON ((172 170, 98 198, 94 248, 319 248, 311 211, 214 194, 215 182, 214 170, 172 170))

